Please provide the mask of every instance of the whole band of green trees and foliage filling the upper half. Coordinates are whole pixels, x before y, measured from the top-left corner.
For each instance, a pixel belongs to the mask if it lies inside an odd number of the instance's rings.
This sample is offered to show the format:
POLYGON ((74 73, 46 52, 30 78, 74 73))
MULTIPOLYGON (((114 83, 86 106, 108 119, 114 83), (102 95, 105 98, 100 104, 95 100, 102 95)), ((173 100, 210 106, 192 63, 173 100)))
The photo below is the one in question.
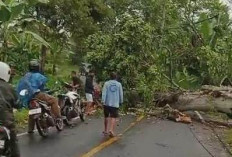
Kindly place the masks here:
POLYGON ((220 0, 4 0, 0 26, 1 60, 42 56, 54 72, 63 58, 84 56, 99 80, 116 70, 147 100, 154 90, 232 79, 231 20, 220 0))

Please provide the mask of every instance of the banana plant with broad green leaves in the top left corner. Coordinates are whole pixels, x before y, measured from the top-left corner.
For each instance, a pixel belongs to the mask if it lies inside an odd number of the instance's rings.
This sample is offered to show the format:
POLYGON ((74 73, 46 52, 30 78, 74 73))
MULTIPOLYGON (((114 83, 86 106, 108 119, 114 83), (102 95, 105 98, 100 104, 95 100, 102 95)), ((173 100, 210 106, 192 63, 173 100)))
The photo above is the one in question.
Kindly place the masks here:
MULTIPOLYGON (((17 42, 13 42, 12 39, 16 39, 19 36, 30 36, 33 38, 32 42, 35 45, 44 45, 50 47, 48 42, 46 42, 39 34, 34 31, 28 31, 23 26, 25 22, 38 24, 39 22, 34 18, 27 18, 25 15, 25 8, 31 7, 31 5, 36 3, 46 3, 46 0, 0 0, 0 60, 6 61, 8 58, 8 49, 12 46, 18 46, 17 42), (23 34, 23 35, 22 35, 23 34), (12 37, 13 36, 13 37, 12 37)), ((18 38, 22 40, 22 38, 18 38)), ((14 40, 16 41, 16 40, 14 40)))

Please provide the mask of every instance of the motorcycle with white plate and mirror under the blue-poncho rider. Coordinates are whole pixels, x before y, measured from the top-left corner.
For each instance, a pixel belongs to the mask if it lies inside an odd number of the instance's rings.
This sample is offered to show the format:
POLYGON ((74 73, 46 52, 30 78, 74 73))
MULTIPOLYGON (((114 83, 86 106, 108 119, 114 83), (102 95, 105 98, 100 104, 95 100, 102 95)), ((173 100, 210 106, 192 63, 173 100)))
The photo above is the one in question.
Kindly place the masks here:
MULTIPOLYGON (((26 94, 27 91, 21 91, 20 95, 26 94)), ((47 137, 50 127, 56 127, 58 131, 63 130, 63 121, 56 120, 51 113, 51 107, 44 101, 33 98, 29 102, 29 118, 31 118, 36 125, 36 128, 42 137, 47 137)))

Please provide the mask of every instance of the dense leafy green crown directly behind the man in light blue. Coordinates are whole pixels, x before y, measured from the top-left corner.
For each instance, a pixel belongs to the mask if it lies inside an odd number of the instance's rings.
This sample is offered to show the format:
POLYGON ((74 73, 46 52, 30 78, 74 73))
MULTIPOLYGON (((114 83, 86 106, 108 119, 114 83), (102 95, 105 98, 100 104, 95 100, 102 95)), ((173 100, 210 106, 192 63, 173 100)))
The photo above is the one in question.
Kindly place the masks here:
POLYGON ((151 91, 163 83, 159 61, 153 64, 158 60, 153 28, 140 17, 123 14, 114 30, 88 38, 87 60, 96 68, 100 80, 108 78, 110 71, 118 71, 126 89, 136 88, 145 100, 151 101, 151 91))

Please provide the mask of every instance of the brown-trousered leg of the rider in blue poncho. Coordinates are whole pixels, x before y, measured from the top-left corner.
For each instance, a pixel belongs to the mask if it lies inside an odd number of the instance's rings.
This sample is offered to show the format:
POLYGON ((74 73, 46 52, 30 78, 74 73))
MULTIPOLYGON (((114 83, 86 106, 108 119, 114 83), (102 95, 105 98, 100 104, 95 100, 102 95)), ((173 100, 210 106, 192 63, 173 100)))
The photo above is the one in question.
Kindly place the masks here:
POLYGON ((40 92, 35 96, 37 99, 41 101, 45 101, 48 103, 49 106, 51 106, 51 111, 54 114, 56 118, 61 118, 61 113, 60 113, 60 107, 58 105, 58 99, 48 95, 46 93, 40 92))

